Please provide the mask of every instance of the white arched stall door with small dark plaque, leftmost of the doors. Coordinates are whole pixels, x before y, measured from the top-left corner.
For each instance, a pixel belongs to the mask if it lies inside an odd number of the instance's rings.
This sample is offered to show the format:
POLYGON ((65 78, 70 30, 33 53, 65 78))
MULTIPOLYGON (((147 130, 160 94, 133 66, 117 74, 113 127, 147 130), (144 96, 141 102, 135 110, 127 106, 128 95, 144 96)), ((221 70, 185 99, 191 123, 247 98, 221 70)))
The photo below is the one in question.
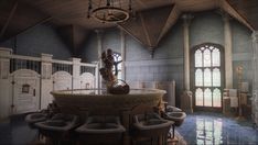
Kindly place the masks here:
POLYGON ((40 109, 40 75, 30 69, 19 69, 10 75, 11 113, 26 113, 40 109))

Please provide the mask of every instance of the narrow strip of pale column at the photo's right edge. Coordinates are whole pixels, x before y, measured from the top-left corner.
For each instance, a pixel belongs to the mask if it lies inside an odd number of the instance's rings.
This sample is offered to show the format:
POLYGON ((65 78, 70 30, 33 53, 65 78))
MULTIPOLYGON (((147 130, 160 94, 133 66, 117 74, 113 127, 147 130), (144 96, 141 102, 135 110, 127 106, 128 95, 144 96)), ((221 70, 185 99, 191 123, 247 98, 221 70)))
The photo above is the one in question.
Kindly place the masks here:
POLYGON ((258 31, 252 32, 252 101, 254 122, 258 125, 258 31))

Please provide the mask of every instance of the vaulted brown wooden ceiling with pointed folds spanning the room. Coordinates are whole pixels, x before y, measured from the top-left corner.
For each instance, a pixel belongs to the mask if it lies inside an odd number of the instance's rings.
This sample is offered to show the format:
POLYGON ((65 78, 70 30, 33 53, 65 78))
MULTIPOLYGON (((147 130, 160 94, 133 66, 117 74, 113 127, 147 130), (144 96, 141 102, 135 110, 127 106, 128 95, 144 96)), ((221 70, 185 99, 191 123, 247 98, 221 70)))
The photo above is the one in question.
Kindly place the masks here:
MULTIPOLYGON (((92 0, 96 7, 100 0, 92 0)), ((118 0, 114 0, 118 1, 118 0)), ((129 0, 120 0, 127 8, 129 0)), ((181 14, 221 9, 258 30, 257 0, 131 0, 137 12, 127 22, 100 23, 87 18, 88 0, 0 0, 0 41, 8 40, 39 24, 57 27, 76 54, 90 30, 119 26, 149 48, 154 48, 181 14)))

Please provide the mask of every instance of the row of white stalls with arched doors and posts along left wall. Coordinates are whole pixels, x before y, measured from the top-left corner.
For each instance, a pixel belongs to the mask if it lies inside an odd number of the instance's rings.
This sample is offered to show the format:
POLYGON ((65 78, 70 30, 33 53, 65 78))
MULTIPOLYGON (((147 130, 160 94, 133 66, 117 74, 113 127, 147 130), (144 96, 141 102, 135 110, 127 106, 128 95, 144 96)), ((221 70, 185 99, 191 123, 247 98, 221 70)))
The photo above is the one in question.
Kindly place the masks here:
POLYGON ((52 90, 97 88, 97 64, 13 55, 0 47, 0 119, 45 109, 53 101, 52 90))

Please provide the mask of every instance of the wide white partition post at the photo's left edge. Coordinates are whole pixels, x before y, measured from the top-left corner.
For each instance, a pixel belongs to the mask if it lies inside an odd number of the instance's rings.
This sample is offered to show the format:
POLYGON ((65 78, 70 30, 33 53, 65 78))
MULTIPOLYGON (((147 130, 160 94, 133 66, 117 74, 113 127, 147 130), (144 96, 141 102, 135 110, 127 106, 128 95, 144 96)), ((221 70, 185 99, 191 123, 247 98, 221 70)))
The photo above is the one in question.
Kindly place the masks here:
POLYGON ((0 119, 6 119, 11 111, 11 83, 9 78, 12 49, 0 47, 0 119))

